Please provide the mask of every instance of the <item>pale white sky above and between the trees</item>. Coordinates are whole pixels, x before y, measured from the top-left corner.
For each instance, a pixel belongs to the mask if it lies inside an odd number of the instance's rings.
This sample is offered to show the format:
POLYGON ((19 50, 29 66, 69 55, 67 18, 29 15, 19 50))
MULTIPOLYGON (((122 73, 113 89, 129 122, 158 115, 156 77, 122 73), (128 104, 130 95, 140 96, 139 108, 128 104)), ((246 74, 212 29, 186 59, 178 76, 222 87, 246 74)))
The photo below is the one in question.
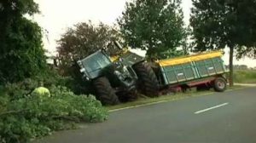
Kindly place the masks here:
MULTIPOLYGON (((116 19, 125 10, 125 2, 130 0, 35 0, 39 4, 41 14, 35 15, 34 20, 48 31, 48 39, 44 37, 44 48, 54 53, 57 46, 55 41, 67 30, 78 22, 92 20, 93 23, 102 21, 104 24, 113 25, 116 19)), ((183 0, 183 13, 186 25, 189 25, 191 0, 183 0)), ((228 53, 228 51, 226 52, 228 53)), ((229 56, 224 55, 224 62, 228 64, 229 56)), ((234 64, 256 66, 256 60, 244 59, 234 64)))

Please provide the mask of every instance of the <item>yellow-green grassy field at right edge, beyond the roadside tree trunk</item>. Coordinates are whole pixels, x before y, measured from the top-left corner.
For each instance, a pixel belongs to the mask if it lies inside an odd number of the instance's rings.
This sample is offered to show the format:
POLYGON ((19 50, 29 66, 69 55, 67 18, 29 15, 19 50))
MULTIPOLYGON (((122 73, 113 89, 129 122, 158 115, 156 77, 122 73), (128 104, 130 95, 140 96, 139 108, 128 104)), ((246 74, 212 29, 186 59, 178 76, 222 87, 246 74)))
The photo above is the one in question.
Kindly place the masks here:
POLYGON ((256 83, 256 71, 237 70, 234 72, 235 83, 256 83))

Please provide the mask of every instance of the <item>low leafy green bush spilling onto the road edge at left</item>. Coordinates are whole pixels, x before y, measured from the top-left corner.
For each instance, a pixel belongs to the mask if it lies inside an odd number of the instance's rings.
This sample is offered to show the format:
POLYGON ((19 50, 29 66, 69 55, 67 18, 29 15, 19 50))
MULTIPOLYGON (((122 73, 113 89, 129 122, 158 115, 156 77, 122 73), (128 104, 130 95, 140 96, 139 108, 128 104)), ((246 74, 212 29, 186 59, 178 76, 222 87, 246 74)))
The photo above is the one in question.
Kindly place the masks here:
POLYGON ((73 129, 78 122, 102 122, 108 117, 92 95, 78 96, 65 87, 52 86, 48 97, 29 94, 19 85, 8 87, 16 91, 10 96, 6 88, 0 94, 0 142, 27 142, 55 130, 73 129))

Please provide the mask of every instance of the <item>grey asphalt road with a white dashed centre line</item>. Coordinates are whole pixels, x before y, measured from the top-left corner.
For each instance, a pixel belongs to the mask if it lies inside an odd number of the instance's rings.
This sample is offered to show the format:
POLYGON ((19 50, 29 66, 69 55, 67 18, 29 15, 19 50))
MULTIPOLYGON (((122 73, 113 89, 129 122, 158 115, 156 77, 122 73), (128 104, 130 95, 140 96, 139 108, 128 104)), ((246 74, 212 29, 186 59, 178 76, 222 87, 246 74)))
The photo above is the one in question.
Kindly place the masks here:
POLYGON ((111 112, 40 143, 256 143, 256 88, 111 112))

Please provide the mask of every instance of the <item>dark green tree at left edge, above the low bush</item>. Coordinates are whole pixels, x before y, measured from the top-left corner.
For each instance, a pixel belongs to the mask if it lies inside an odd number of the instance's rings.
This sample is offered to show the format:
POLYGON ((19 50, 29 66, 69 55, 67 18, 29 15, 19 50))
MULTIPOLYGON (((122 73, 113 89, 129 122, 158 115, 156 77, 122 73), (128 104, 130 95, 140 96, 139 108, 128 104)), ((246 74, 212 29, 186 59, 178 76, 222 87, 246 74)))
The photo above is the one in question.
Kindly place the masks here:
POLYGON ((33 0, 0 1, 0 83, 33 77, 46 67, 41 28, 24 17, 35 13, 33 0))

